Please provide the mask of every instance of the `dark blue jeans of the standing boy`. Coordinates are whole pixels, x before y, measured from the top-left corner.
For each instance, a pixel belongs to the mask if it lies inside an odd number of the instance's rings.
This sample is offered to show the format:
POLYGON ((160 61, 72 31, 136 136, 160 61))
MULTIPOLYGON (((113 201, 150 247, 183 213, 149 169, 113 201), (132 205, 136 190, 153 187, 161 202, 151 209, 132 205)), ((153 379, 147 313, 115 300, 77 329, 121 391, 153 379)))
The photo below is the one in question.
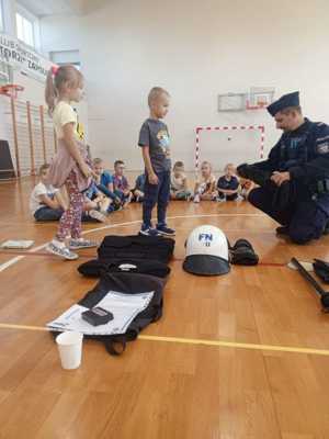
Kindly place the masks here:
POLYGON ((143 223, 151 224, 152 209, 158 203, 158 223, 166 222, 167 207, 170 196, 170 171, 156 172, 158 184, 150 184, 146 172, 143 203, 143 223))

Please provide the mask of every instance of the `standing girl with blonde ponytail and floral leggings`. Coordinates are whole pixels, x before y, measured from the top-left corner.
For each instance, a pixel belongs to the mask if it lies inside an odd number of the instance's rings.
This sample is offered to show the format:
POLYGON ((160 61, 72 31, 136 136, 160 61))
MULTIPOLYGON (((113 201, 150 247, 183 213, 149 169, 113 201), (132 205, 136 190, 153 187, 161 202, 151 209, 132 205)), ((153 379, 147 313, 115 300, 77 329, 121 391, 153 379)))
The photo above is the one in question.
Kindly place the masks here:
POLYGON ((45 99, 48 113, 54 120, 58 138, 58 153, 49 168, 48 181, 55 188, 66 185, 69 205, 61 215, 55 238, 46 247, 50 254, 65 259, 77 259, 78 255, 69 249, 98 246, 97 240, 84 240, 81 236, 81 213, 84 206, 83 192, 94 182, 92 158, 88 145, 84 145, 83 132, 70 102, 80 102, 84 94, 84 78, 73 66, 52 67, 47 81, 45 99), (68 232, 71 230, 69 249, 65 246, 68 232))

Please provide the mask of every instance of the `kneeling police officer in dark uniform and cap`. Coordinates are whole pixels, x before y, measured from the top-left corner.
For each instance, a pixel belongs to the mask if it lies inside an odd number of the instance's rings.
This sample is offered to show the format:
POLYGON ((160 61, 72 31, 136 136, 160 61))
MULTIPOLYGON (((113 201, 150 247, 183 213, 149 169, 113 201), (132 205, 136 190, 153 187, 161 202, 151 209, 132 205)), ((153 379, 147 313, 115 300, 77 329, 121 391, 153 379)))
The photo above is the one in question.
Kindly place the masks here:
POLYGON ((287 234, 296 244, 307 244, 328 232, 329 126, 303 116, 298 91, 283 95, 268 111, 283 134, 268 160, 253 166, 275 172, 272 180, 279 187, 291 180, 295 196, 288 206, 277 207, 272 205, 272 192, 257 188, 250 191, 248 200, 282 224, 276 233, 287 234))

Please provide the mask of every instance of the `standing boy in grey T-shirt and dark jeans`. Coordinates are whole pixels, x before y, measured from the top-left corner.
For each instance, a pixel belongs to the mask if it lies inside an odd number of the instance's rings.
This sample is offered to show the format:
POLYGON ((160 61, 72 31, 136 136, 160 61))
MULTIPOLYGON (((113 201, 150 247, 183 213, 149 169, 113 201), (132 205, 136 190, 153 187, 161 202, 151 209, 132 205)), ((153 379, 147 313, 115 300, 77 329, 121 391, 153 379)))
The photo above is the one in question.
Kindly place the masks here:
POLYGON ((160 87, 151 89, 148 95, 150 110, 139 132, 138 145, 143 150, 146 168, 140 233, 147 236, 175 235, 166 224, 170 196, 170 147, 168 127, 160 120, 166 117, 170 105, 169 93, 160 87), (158 203, 158 224, 152 227, 152 209, 158 203))

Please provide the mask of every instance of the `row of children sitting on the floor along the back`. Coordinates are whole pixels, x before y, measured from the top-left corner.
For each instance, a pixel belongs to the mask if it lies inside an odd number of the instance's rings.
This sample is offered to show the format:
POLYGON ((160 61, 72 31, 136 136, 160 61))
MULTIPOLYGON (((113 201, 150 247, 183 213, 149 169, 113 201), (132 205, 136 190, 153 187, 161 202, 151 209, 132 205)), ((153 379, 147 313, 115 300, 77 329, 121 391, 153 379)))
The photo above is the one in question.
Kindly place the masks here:
MULTIPOLYGON (((45 164, 39 168, 39 183, 33 189, 30 198, 30 210, 36 221, 59 221, 67 209, 59 189, 55 189, 48 183, 49 167, 49 164, 45 164)), ((82 222, 104 223, 110 213, 121 211, 132 200, 137 203, 144 201, 145 173, 137 177, 135 188, 131 190, 128 180, 124 176, 125 165, 122 160, 115 161, 113 176, 104 171, 104 164, 100 158, 93 160, 93 168, 97 180, 93 187, 84 192, 86 204, 82 222)), ((223 202, 236 200, 238 195, 247 200, 252 184, 249 180, 240 179, 239 181, 234 176, 232 164, 226 165, 225 176, 219 177, 217 181, 212 172, 212 165, 204 161, 201 167, 201 176, 196 179, 194 193, 191 194, 188 178, 183 172, 183 162, 177 161, 171 173, 170 200, 193 200, 194 203, 200 203, 201 200, 223 202)))

